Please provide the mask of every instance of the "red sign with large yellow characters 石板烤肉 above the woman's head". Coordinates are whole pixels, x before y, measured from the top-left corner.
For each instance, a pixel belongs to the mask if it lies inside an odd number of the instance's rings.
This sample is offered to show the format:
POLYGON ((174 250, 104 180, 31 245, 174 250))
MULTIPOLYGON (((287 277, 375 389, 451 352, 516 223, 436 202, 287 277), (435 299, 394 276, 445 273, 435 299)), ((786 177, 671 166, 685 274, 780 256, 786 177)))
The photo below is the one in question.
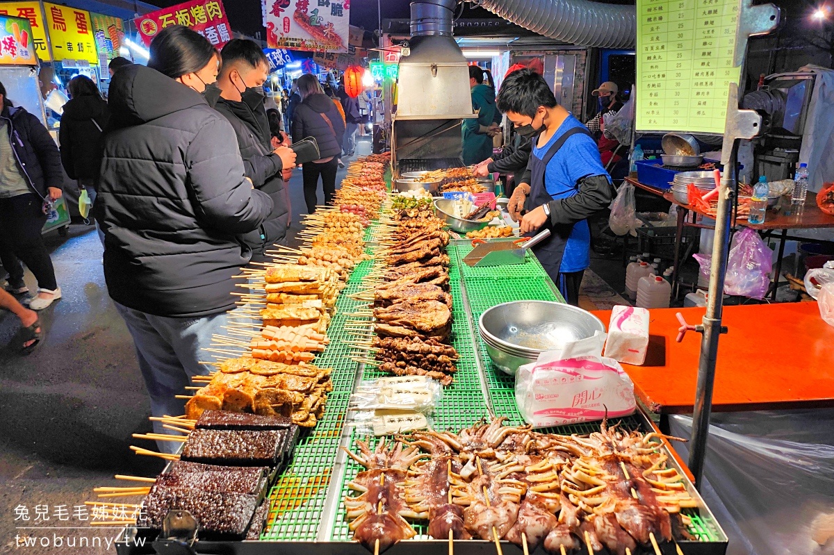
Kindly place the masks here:
POLYGON ((168 25, 184 25, 222 48, 232 40, 232 27, 221 0, 193 0, 166 7, 133 20, 146 46, 168 25))

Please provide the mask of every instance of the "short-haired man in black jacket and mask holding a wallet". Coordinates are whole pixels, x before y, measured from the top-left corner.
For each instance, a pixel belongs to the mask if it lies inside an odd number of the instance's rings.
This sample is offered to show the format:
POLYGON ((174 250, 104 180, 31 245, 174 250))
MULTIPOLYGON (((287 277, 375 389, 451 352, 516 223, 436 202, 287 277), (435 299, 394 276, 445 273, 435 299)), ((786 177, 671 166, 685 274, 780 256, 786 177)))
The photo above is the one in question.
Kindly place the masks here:
POLYGON ((273 150, 270 145, 263 93, 269 61, 264 51, 254 41, 235 38, 223 47, 220 55, 223 68, 217 77, 217 88, 209 87, 206 100, 210 105, 216 98, 214 108, 232 124, 240 158, 244 159, 244 175, 252 180, 255 188, 272 198, 269 218, 259 229, 242 237, 252 248, 252 259, 264 262, 266 250, 274 243, 283 243, 286 237, 290 216, 289 190, 282 170, 294 167, 295 153, 287 147, 273 150))

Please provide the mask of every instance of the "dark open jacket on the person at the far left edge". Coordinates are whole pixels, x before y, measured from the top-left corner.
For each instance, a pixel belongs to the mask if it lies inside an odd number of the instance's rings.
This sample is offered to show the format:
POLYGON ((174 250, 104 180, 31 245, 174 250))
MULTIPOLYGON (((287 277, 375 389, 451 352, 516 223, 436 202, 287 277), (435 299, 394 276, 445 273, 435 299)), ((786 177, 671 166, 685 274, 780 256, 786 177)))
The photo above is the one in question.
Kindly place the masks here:
POLYGON ((38 117, 23 107, 5 107, 0 117, 6 120, 9 142, 33 193, 45 198, 47 188, 62 189, 58 145, 38 117))

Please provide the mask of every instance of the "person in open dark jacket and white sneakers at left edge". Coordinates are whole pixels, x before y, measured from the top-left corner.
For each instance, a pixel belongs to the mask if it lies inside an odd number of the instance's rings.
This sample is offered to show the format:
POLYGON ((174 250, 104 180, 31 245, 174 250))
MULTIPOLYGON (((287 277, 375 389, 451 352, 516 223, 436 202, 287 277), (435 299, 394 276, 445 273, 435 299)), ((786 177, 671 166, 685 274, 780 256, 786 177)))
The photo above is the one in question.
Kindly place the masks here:
POLYGON ((13 293, 28 292, 20 261, 32 271, 38 293, 29 307, 43 310, 61 298, 41 235, 48 203, 63 194, 61 155, 43 123, 15 107, 2 82, 0 106, 0 257, 13 293))

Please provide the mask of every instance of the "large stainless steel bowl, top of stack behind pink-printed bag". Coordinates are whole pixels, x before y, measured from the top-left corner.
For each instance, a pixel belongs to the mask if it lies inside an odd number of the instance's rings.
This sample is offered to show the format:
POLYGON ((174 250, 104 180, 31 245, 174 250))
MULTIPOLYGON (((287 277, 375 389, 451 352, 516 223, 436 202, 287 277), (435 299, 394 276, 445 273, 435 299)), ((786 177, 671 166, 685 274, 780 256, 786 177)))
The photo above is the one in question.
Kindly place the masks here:
POLYGON ((562 348, 565 343, 605 333, 593 314, 570 304, 549 301, 513 301, 488 309, 478 320, 482 336, 511 353, 538 353, 562 348))

